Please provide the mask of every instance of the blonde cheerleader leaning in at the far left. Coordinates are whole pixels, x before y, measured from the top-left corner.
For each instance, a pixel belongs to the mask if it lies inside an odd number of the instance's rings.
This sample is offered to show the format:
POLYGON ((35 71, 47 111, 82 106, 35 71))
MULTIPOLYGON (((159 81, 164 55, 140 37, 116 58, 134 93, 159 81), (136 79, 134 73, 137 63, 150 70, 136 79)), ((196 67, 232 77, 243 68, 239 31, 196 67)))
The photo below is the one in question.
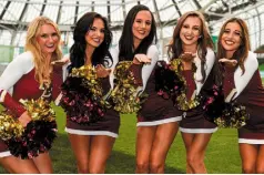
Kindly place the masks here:
MULTIPOLYGON (((26 52, 18 55, 0 76, 0 102, 26 127, 32 120, 23 105, 23 100, 55 100, 62 83, 62 68, 52 62, 61 59, 58 25, 45 17, 35 18, 28 28, 26 52)), ((10 154, 0 141, 0 163, 9 173, 52 173, 48 152, 31 159, 21 159, 10 154)))

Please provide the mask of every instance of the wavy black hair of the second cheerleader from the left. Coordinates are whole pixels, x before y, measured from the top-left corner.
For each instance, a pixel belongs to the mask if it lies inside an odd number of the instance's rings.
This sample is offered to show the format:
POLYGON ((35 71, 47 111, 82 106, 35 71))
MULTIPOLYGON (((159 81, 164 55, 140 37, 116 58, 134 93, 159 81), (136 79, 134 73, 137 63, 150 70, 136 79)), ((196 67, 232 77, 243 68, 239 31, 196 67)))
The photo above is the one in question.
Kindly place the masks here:
MULTIPOLYGON (((101 19, 104 23, 104 40, 95 48, 92 54, 92 64, 104 64, 105 58, 110 55, 109 47, 112 42, 112 32, 110 31, 108 20, 97 12, 88 12, 80 18, 73 31, 74 43, 70 49, 70 71, 72 68, 80 68, 85 63, 85 49, 88 44, 85 34, 92 27, 94 19, 101 19)), ((111 56, 109 58, 111 59, 111 56)))

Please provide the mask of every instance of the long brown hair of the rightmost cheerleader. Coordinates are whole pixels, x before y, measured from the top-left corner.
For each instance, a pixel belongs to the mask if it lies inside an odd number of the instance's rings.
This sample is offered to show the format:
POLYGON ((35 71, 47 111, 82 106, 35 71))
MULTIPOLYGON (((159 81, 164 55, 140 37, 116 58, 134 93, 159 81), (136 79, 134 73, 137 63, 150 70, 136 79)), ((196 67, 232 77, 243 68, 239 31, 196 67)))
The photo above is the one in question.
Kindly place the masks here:
POLYGON ((241 45, 238 47, 238 49, 234 52, 232 59, 237 60, 238 62, 238 66, 242 69, 242 72, 244 74, 245 72, 245 66, 244 66, 244 62, 245 59, 248 55, 248 51, 251 50, 251 43, 250 43, 250 34, 248 34, 248 28, 245 23, 244 20, 240 19, 240 18, 231 18, 230 20, 227 20, 221 28, 220 34, 219 34, 219 42, 217 42, 217 59, 223 59, 225 58, 225 49, 223 48, 223 45, 221 44, 221 38, 223 37, 225 27, 227 25, 227 23, 230 22, 236 22, 242 30, 242 35, 241 35, 241 45))

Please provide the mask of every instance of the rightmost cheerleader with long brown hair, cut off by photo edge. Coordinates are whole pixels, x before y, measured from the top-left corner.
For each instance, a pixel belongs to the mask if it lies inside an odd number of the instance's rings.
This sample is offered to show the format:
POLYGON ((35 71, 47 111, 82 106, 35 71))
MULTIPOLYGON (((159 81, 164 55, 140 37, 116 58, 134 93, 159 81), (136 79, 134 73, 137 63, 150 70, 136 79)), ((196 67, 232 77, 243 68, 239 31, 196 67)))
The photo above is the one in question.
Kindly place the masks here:
POLYGON ((225 102, 245 106, 250 119, 238 128, 242 173, 264 173, 264 90, 246 23, 238 18, 221 28, 217 59, 223 65, 225 102))

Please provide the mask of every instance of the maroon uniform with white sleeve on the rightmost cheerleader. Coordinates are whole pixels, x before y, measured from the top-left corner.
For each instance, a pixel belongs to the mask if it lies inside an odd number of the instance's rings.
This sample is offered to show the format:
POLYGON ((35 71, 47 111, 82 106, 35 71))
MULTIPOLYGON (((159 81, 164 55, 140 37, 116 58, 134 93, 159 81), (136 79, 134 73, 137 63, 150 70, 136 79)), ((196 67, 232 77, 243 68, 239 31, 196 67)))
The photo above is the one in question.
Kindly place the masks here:
POLYGON ((245 72, 241 68, 225 66, 224 95, 230 95, 233 89, 236 94, 232 100, 245 106, 250 114, 246 125, 238 128, 238 143, 264 144, 264 89, 258 71, 256 55, 248 52, 245 62, 245 72))

